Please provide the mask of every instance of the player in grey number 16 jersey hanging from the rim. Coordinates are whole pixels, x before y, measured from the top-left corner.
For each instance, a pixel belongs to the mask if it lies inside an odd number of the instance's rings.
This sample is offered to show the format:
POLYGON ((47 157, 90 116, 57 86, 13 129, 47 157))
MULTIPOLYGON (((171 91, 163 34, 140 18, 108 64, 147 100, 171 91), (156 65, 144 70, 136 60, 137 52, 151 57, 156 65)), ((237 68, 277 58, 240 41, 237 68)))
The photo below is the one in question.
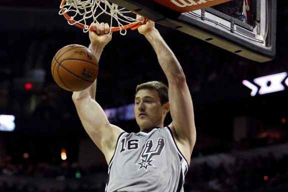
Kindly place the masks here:
MULTIPOLYGON (((143 20, 143 18, 140 18, 143 20)), ((108 24, 94 24, 89 48, 97 59, 111 40, 108 24)), ((96 81, 87 89, 73 92, 80 120, 108 163, 106 191, 183 191, 184 176, 196 139, 192 100, 183 70, 166 45, 154 22, 138 28, 154 48, 169 89, 158 81, 140 84, 135 94, 137 133, 127 133, 110 124, 95 101, 96 81), (169 99, 168 99, 169 97, 169 99), (170 111, 172 122, 164 126, 170 111)))

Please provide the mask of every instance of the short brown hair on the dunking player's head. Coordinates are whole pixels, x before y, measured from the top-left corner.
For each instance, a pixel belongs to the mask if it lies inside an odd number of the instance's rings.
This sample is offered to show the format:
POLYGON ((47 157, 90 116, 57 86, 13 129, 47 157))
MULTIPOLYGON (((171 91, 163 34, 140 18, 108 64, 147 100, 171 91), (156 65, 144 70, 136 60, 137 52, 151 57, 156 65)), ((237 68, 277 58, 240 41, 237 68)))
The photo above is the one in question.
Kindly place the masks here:
MULTIPOLYGON (((136 94, 140 89, 153 89, 158 92, 161 104, 164 104, 169 101, 168 98, 168 86, 160 81, 148 81, 142 84, 138 84, 136 87, 136 94)), ((136 95, 135 94, 135 95, 136 95)))

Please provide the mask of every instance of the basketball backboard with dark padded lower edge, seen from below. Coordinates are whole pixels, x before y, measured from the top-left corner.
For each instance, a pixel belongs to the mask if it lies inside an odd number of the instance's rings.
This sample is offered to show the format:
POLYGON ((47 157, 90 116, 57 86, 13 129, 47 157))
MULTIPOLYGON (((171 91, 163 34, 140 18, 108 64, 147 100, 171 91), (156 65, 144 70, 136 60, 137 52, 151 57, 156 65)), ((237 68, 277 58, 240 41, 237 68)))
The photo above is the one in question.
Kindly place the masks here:
MULTIPOLYGON (((183 13, 154 0, 108 1, 251 60, 275 56, 276 0, 232 0, 183 13)), ((188 6, 196 0, 170 1, 188 6)))

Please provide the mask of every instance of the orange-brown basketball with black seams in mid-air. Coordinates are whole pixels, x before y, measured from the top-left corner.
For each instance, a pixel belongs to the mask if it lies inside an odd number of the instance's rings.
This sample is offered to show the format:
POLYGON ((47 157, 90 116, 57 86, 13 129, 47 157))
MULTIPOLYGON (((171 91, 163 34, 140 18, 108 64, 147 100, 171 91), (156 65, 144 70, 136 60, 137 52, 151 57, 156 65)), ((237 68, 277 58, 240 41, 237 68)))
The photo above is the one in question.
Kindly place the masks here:
POLYGON ((98 75, 98 62, 87 47, 70 44, 59 49, 52 59, 51 73, 55 82, 68 91, 89 87, 98 75))

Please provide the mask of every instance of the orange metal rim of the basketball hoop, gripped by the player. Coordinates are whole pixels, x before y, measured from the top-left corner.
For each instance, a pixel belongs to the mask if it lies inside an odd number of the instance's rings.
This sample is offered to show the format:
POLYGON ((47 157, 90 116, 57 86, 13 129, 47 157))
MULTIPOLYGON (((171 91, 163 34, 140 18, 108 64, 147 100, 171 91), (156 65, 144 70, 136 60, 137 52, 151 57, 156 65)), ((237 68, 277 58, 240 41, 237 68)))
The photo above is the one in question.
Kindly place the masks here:
MULTIPOLYGON (((66 2, 66 0, 62 0, 61 2, 61 5, 60 7, 63 7, 64 6, 64 3, 66 2)), ((90 27, 90 25, 84 25, 82 23, 79 23, 79 22, 76 22, 74 19, 72 19, 66 12, 65 12, 65 9, 64 8, 61 8, 61 11, 64 15, 64 17, 68 20, 68 22, 72 23, 73 25, 79 27, 79 28, 83 28, 83 29, 86 29, 85 26, 87 28, 90 27)), ((132 12, 132 11, 131 11, 132 12)), ((145 24, 146 22, 148 21, 147 18, 145 18, 144 22, 143 23, 140 23, 138 21, 135 21, 133 23, 129 23, 129 24, 126 24, 126 25, 123 25, 123 26, 112 26, 110 27, 111 31, 119 31, 119 30, 125 30, 125 29, 131 29, 131 30, 135 30, 137 29, 139 26, 141 26, 142 24, 145 24)), ((91 31, 95 31, 92 27, 89 29, 91 31)))

